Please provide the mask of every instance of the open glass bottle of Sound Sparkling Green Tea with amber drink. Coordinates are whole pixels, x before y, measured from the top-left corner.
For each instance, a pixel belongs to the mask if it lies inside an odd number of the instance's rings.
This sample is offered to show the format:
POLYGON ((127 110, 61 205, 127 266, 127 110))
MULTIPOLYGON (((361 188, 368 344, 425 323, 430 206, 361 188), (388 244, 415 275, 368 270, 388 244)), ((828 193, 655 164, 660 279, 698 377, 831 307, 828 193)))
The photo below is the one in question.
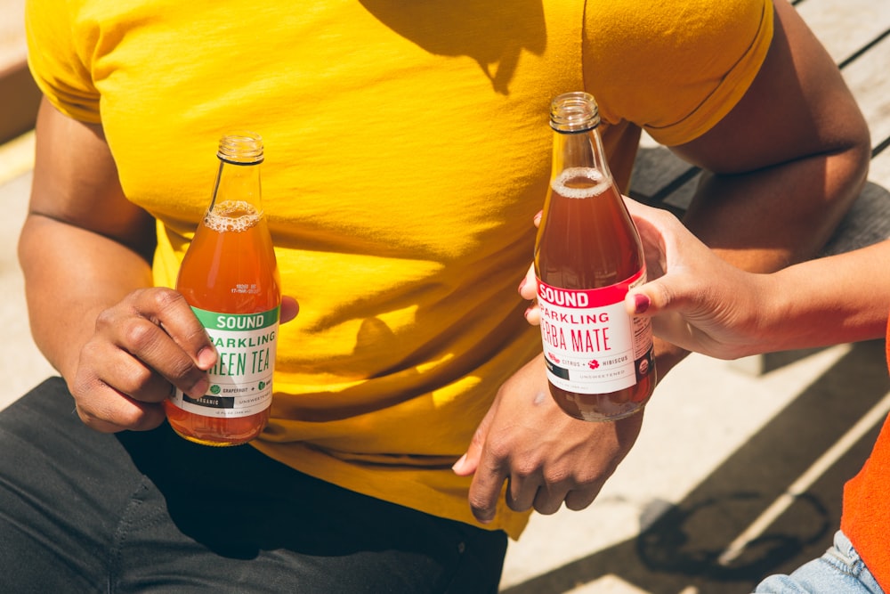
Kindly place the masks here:
POLYGON ((281 291, 263 216, 263 140, 220 140, 213 198, 182 260, 176 289, 204 324, 219 359, 206 395, 166 402, 176 433, 206 445, 247 443, 269 419, 281 291))

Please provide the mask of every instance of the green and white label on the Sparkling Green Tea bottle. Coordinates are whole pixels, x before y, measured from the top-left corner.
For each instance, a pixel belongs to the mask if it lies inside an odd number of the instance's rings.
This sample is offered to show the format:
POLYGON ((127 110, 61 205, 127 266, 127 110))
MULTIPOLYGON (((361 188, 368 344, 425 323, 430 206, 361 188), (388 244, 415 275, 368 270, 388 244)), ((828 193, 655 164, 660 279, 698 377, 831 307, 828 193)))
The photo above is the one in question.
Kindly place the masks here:
POLYGON ((209 370, 206 395, 191 398, 177 389, 170 400, 183 411, 226 419, 247 417, 269 408, 279 310, 248 315, 192 310, 204 324, 219 359, 209 370))

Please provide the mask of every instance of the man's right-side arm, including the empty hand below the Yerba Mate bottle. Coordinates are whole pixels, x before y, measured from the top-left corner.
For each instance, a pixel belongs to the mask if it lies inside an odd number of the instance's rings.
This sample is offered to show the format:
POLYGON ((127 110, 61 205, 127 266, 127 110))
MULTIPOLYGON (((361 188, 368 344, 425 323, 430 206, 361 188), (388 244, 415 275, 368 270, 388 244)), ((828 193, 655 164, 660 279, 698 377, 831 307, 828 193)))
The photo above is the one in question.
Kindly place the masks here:
MULTIPOLYGON (((865 181, 870 141, 843 79, 797 12, 777 0, 776 31, 747 94, 700 138, 675 147, 709 172, 686 223, 727 262, 771 271, 812 256, 865 181)), ((533 297, 526 283, 522 294, 533 297)), ((686 352, 659 341, 659 377, 686 352)), ((582 509, 635 443, 642 414, 615 423, 569 419, 531 362, 501 387, 458 474, 474 474, 470 505, 582 509)))

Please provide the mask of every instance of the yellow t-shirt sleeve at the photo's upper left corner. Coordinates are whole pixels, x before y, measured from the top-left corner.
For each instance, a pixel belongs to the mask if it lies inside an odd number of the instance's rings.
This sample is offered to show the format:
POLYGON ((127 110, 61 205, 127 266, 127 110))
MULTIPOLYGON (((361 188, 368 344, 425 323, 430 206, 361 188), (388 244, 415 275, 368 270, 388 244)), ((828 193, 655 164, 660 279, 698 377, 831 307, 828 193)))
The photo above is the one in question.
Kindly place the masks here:
POLYGON ((89 67, 90 33, 77 29, 74 2, 28 0, 25 30, 28 68, 37 86, 70 118, 99 123, 99 92, 89 67))

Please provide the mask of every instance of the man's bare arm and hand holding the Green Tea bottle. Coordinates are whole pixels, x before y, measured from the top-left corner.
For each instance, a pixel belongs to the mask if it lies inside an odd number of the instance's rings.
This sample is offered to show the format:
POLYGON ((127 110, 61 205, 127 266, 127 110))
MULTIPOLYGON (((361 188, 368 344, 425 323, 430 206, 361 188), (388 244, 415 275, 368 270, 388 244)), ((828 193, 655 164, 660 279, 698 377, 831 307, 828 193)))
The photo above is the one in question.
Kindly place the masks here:
POLYGON ((150 289, 154 219, 125 199, 101 126, 44 100, 19 256, 37 346, 85 423, 157 427, 171 383, 203 394, 215 352, 177 293, 150 289))

